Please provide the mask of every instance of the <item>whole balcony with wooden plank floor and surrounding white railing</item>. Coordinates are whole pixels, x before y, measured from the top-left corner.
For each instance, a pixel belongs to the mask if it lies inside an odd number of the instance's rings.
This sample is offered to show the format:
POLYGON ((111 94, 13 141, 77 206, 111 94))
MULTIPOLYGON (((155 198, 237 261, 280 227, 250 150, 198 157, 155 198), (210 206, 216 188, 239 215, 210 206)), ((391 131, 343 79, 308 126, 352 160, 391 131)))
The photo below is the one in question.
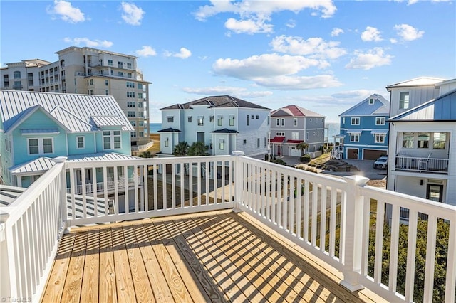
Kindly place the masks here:
POLYGON ((0 208, 1 297, 455 302, 455 206, 239 155, 56 162, 0 208))

